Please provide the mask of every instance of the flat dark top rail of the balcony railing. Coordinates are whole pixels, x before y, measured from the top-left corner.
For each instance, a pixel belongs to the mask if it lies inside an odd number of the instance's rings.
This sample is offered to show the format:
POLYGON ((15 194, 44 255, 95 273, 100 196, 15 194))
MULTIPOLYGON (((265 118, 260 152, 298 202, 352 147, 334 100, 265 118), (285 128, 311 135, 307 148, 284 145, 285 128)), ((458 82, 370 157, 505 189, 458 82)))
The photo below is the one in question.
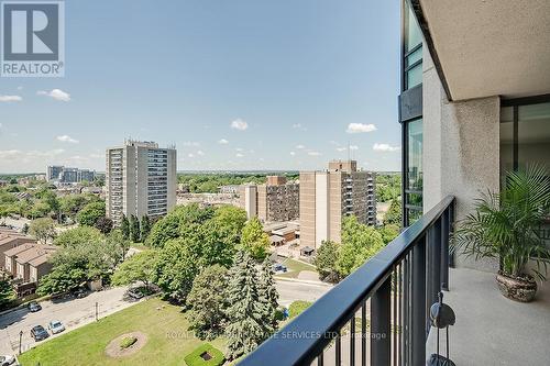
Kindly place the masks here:
POLYGON ((309 365, 453 201, 446 197, 239 365, 309 365))

